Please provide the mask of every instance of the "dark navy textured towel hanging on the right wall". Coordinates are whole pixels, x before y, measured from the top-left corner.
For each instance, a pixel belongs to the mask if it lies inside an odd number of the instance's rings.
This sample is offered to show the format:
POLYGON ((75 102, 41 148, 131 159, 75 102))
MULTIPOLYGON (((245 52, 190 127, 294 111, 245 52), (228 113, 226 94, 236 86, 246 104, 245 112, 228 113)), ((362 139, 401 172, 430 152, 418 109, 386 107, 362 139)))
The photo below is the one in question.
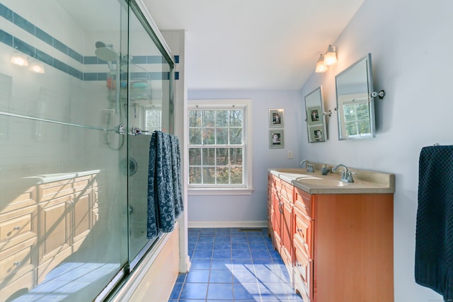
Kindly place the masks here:
POLYGON ((453 146, 420 151, 415 281, 453 301, 453 146))

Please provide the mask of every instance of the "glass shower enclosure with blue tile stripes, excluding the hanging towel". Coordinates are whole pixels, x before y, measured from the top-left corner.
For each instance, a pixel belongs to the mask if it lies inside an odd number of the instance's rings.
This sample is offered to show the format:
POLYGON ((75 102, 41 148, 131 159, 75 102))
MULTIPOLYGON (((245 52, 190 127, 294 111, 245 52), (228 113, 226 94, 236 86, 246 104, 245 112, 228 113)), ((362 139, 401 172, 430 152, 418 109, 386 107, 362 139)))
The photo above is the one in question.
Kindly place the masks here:
POLYGON ((0 301, 93 301, 147 238, 174 61, 130 0, 0 0, 0 301))

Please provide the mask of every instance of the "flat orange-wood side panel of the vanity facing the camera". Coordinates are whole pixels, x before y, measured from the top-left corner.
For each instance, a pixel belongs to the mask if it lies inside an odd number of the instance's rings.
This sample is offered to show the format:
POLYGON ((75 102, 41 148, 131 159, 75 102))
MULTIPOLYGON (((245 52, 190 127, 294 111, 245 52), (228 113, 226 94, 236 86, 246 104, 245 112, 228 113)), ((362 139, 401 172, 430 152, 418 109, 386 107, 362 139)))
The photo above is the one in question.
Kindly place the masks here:
POLYGON ((393 194, 318 194, 314 300, 394 301, 393 194))

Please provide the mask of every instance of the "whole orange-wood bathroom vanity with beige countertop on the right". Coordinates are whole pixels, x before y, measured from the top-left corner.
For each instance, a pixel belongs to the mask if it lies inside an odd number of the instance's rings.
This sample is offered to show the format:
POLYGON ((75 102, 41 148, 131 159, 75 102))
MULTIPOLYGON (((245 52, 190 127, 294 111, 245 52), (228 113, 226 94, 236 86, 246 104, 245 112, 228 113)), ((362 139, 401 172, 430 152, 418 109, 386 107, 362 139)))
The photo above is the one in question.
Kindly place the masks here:
MULTIPOLYGON (((394 301, 394 175, 268 170, 268 231, 304 302, 394 301)), ((331 170, 332 165, 328 165, 331 170)))

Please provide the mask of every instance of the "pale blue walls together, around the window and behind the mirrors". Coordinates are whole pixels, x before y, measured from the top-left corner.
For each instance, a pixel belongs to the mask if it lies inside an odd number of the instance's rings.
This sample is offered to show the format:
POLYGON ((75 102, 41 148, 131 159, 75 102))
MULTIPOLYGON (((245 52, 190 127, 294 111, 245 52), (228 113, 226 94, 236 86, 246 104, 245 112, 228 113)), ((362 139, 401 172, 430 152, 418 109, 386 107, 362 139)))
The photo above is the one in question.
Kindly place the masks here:
MULTIPOLYGON (((256 221, 265 217, 265 169, 295 166, 308 158, 355 168, 396 174, 394 194, 395 301, 442 301, 440 295, 414 281, 415 216, 418 156, 423 146, 453 144, 452 1, 365 0, 337 41, 338 64, 325 74, 312 74, 302 91, 189 91, 190 98, 253 98, 253 177, 251 197, 190 197, 189 223, 256 221), (376 101, 377 136, 338 141, 337 117, 328 123, 329 139, 308 144, 302 122, 304 95, 323 86, 326 110, 336 107, 335 75, 372 53, 374 87, 386 97, 376 101), (267 110, 285 108, 287 148, 267 147, 267 110), (289 139, 290 138, 290 139, 289 139), (286 158, 294 151, 294 160, 286 158), (296 150, 297 149, 297 150, 296 150), (223 215, 222 215, 223 214, 223 215)), ((314 63, 316 58, 314 58, 314 63)), ((335 113, 335 111, 333 111, 335 113)))

